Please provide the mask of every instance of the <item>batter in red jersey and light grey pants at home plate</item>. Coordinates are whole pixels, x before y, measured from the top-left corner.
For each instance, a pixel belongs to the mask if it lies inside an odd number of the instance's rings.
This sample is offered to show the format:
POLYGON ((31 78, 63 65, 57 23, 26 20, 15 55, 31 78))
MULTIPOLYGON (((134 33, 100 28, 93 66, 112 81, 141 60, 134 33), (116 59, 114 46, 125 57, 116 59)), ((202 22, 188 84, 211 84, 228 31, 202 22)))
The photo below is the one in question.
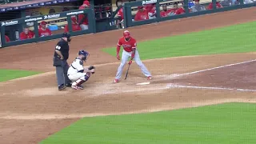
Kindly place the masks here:
POLYGON ((114 83, 118 83, 120 81, 120 78, 122 76, 122 69, 126 65, 126 62, 128 61, 129 58, 130 58, 128 62, 129 65, 134 60, 142 70, 142 74, 144 74, 148 80, 152 79, 152 76, 149 70, 146 69, 146 66, 142 63, 141 59, 139 58, 136 40, 130 37, 130 32, 128 30, 125 30, 123 32, 123 37, 120 38, 118 41, 118 46, 117 46, 118 60, 120 60, 119 52, 120 52, 121 46, 123 47, 122 60, 121 60, 120 66, 118 67, 118 72, 115 76, 114 83))

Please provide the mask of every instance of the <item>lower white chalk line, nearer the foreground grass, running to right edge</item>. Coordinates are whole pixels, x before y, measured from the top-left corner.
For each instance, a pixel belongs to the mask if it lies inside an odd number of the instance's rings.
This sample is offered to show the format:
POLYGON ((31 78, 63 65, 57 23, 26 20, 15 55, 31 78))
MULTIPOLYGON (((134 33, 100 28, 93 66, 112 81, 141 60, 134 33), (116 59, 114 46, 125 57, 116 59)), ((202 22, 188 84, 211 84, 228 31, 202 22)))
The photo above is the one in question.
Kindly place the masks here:
POLYGON ((181 85, 170 85, 167 86, 168 88, 172 87, 179 87, 179 88, 192 88, 192 89, 208 89, 208 90, 237 90, 237 91, 250 91, 250 92, 256 92, 256 90, 250 90, 250 89, 232 89, 232 88, 225 88, 225 87, 206 87, 206 86, 181 86, 181 85))

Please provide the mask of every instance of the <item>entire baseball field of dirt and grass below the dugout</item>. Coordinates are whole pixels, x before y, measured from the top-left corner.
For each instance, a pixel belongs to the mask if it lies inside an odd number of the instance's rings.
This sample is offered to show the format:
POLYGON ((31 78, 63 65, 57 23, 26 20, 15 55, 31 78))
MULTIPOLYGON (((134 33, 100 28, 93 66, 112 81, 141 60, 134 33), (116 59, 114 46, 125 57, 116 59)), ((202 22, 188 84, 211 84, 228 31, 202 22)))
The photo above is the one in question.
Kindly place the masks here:
POLYGON ((0 143, 255 143, 255 10, 129 28, 151 81, 134 62, 113 83, 122 30, 72 39, 69 62, 96 66, 85 90, 58 91, 57 40, 1 49, 0 143))

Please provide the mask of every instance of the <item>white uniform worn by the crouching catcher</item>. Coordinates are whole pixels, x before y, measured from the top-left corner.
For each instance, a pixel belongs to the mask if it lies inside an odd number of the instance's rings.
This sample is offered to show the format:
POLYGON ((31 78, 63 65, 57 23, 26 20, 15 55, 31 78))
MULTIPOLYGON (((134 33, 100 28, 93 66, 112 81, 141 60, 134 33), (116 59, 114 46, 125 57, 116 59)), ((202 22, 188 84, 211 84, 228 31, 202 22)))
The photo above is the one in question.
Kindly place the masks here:
POLYGON ((83 61, 80 58, 75 58, 74 62, 70 65, 69 70, 67 70, 67 76, 70 81, 75 82, 78 79, 87 81, 90 77, 90 73, 84 73, 83 61), (88 78, 87 78, 88 77, 88 78))

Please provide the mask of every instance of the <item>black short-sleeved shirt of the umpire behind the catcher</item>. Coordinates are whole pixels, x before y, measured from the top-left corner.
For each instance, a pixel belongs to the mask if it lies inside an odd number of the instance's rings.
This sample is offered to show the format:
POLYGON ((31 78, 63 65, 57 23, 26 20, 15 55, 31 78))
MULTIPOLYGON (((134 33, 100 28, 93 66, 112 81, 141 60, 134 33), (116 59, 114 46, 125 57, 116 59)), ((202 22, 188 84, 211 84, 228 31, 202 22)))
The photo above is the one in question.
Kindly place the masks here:
MULTIPOLYGON (((67 60, 69 58, 70 46, 69 46, 69 43, 66 42, 65 40, 61 39, 57 43, 55 50, 60 50, 62 52, 64 60, 67 60)), ((56 51, 54 51, 54 57, 56 57, 56 58, 59 57, 58 54, 56 53, 56 51)))

